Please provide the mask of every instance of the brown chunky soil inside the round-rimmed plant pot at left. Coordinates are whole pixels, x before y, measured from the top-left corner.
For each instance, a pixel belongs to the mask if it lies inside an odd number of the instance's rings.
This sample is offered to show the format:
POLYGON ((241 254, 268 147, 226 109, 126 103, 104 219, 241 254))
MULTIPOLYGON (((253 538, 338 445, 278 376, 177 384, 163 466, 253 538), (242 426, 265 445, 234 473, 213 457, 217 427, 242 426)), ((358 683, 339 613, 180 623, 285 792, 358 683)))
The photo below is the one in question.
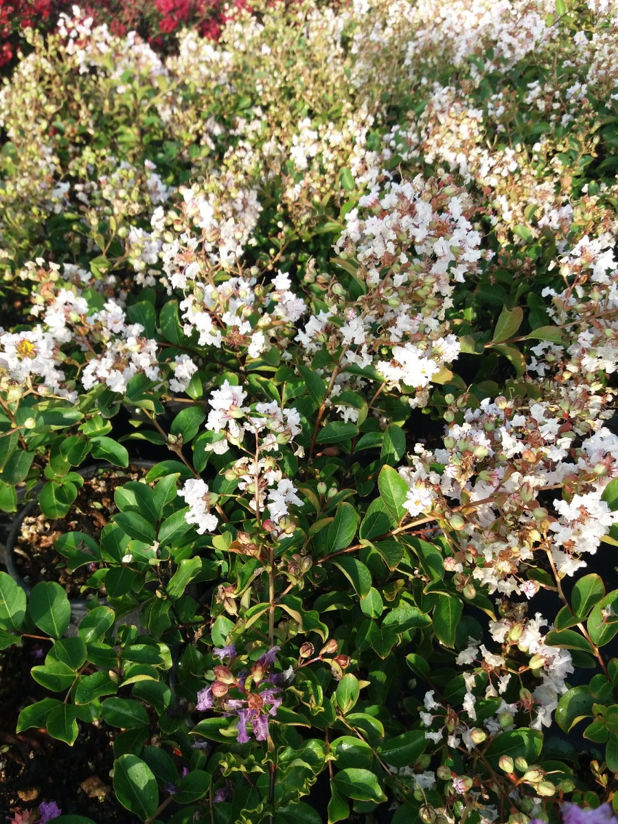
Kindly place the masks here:
MULTIPOLYGON (((147 468, 131 465, 128 469, 104 469, 84 481, 82 489, 68 515, 52 520, 37 507, 21 522, 21 530, 13 548, 13 558, 21 578, 33 587, 39 581, 56 581, 69 598, 80 598, 91 574, 102 564, 79 567, 73 573, 67 569, 67 561, 54 549, 54 542, 64 532, 84 532, 99 541, 101 530, 118 512, 114 492, 129 480, 140 480, 147 468)), ((84 548, 84 551, 88 551, 84 548)), ((99 591, 105 596, 103 588, 99 591)))

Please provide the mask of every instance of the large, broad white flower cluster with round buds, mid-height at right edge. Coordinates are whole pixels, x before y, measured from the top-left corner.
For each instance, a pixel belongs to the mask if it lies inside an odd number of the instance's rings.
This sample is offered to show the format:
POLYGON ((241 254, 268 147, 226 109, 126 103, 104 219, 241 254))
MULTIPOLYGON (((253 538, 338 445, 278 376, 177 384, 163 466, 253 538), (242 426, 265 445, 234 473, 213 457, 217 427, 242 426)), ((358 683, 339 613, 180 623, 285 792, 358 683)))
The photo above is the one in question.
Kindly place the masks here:
POLYGON ((418 445, 400 475, 410 486, 411 516, 435 513, 456 530, 445 560, 456 581, 511 595, 526 592, 524 569, 536 552, 549 551, 558 574, 572 575, 618 522, 602 500, 618 477, 618 438, 598 421, 575 447, 577 419, 558 416, 545 402, 518 411, 498 401, 484 400, 462 423, 453 421, 444 449, 418 445), (549 489, 564 489, 551 507, 539 500, 549 489))

